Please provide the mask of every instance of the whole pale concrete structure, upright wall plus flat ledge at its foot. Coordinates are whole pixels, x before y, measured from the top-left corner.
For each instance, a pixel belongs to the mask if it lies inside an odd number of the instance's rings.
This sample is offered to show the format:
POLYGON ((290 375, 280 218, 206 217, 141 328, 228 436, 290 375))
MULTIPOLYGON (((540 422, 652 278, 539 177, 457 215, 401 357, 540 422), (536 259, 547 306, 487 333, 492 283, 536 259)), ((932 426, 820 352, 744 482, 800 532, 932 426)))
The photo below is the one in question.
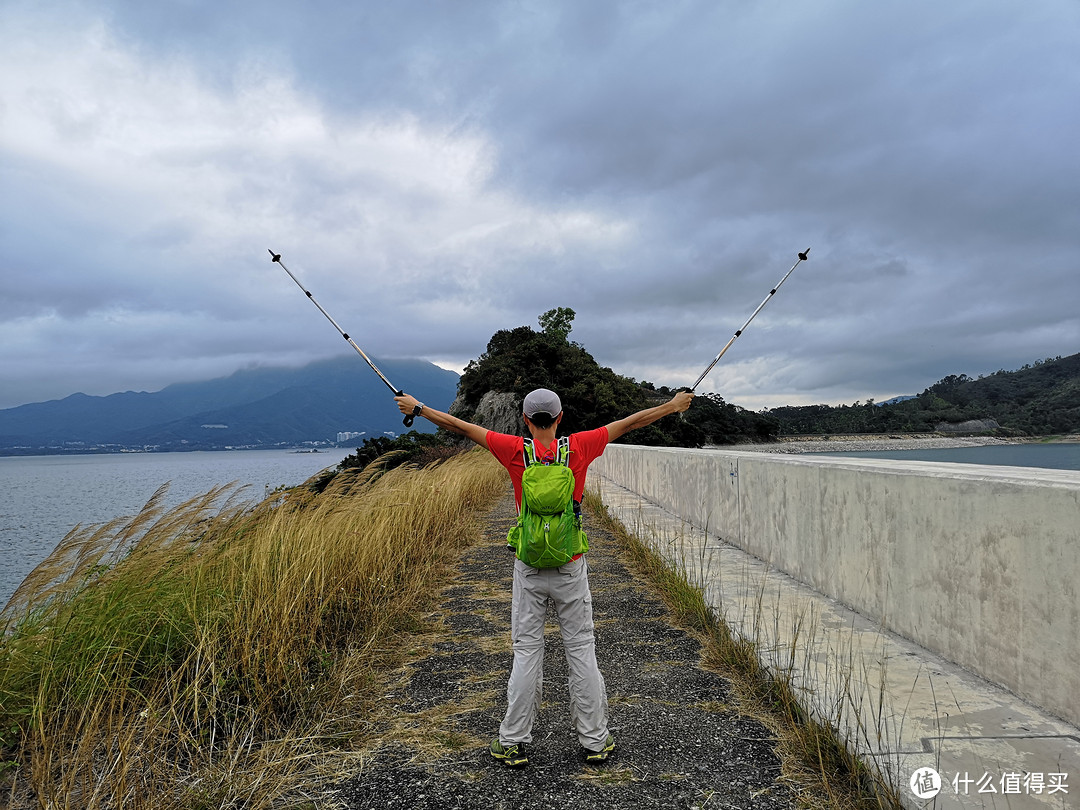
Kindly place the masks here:
POLYGON ((1016 673, 1015 661, 997 659, 1026 657, 1040 672, 1021 683, 1049 681, 1066 706, 1078 697, 1068 690, 1080 666, 1061 663, 1075 661, 1080 638, 1077 569, 1063 570, 1076 563, 1080 519, 1069 510, 1080 474, 1035 484, 1031 470, 972 467, 611 446, 590 481, 627 528, 701 582, 772 669, 791 674, 808 707, 902 785, 909 807, 1080 807, 1075 724, 889 632, 897 616, 916 631, 940 621, 946 632, 926 636, 969 654, 977 644, 966 633, 993 636, 1001 622, 1009 637, 981 660, 1016 673), (1039 590, 1036 563, 1048 551, 1053 570, 1039 590), (943 561, 953 565, 939 570, 943 561), (777 570, 785 567, 812 582, 777 570), (1029 626, 1039 621, 1050 626, 1029 626), (927 767, 944 785, 922 801, 907 782, 927 767))

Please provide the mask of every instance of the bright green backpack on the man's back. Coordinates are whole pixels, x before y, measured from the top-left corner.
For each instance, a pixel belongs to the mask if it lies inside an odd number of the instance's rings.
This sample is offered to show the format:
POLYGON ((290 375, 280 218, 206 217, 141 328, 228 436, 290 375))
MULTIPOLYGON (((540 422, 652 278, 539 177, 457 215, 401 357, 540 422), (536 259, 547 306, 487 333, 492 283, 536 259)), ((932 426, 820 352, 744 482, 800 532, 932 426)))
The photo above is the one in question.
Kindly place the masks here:
POLYGON ((573 471, 568 465, 570 442, 558 440, 553 462, 536 458, 532 441, 525 440, 522 510, 517 525, 507 534, 507 545, 534 568, 557 568, 589 551, 581 530, 581 513, 573 501, 573 471))

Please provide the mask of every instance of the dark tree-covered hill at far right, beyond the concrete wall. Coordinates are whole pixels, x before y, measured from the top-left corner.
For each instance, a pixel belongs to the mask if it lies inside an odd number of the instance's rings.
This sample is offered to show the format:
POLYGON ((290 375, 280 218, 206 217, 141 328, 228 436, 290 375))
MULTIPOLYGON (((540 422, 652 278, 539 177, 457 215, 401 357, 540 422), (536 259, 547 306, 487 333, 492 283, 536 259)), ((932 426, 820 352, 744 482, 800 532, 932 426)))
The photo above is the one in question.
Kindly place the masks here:
POLYGON ((808 405, 768 411, 783 433, 931 432, 969 420, 1004 435, 1080 432, 1080 354, 1036 361, 972 379, 949 375, 918 396, 876 405, 808 405))

